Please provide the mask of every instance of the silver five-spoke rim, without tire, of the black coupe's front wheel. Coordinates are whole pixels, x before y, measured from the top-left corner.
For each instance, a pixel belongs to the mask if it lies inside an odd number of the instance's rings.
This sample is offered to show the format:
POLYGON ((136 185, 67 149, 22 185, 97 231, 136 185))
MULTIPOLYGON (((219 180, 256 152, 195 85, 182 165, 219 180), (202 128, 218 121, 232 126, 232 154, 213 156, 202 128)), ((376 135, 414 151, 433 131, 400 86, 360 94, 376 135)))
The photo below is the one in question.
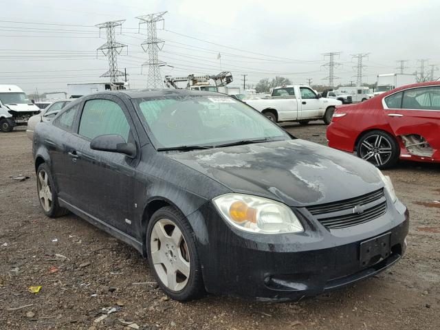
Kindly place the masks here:
POLYGON ((169 219, 157 221, 151 231, 150 249, 160 281, 172 291, 184 289, 190 276, 190 256, 179 227, 169 219))

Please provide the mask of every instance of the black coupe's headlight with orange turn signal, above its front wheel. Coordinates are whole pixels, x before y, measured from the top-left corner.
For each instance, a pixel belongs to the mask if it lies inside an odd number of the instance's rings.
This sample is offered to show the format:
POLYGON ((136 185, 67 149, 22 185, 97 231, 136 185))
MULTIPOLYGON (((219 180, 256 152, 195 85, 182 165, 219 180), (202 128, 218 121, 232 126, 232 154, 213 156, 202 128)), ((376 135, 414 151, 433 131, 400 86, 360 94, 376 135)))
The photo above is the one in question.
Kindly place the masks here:
POLYGON ((212 199, 220 214, 245 232, 278 234, 303 232, 304 228, 283 203, 244 194, 225 194, 212 199))

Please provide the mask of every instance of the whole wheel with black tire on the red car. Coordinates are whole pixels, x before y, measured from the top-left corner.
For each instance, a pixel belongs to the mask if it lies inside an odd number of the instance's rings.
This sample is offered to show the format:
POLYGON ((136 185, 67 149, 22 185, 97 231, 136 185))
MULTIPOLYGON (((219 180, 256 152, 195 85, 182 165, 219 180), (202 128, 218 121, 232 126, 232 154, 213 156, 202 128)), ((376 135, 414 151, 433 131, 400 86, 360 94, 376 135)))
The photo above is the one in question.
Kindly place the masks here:
POLYGON ((389 168, 399 160, 399 144, 384 131, 370 131, 360 137, 356 153, 377 168, 389 168))

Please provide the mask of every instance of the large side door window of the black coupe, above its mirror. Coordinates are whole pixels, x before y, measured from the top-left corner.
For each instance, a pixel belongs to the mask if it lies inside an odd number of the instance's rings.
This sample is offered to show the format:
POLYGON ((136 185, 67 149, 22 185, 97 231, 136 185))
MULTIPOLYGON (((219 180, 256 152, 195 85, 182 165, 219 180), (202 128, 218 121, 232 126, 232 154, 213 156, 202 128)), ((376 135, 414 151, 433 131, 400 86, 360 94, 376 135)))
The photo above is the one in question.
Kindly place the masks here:
POLYGON ((118 103, 111 100, 85 102, 78 134, 93 140, 99 135, 118 134, 129 140, 130 125, 118 103))

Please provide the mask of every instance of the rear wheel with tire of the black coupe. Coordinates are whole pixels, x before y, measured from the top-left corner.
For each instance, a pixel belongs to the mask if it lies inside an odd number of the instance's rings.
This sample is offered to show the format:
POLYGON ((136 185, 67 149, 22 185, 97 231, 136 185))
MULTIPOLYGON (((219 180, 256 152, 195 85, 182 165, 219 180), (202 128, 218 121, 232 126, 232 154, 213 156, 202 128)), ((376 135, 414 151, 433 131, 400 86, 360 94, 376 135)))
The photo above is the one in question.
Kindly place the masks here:
POLYGON ((43 163, 36 170, 36 193, 44 214, 50 218, 62 217, 69 211, 58 204, 58 195, 54 189, 54 180, 49 166, 43 163))

